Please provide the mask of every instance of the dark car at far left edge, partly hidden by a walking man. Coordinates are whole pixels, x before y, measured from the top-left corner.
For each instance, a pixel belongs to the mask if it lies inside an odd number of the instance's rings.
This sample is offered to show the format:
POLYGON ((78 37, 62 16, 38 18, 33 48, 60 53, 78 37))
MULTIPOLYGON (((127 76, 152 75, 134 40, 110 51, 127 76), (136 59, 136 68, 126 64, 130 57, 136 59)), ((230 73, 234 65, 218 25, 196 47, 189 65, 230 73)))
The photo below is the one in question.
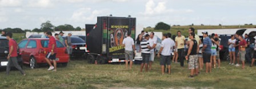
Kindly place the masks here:
MULTIPOLYGON (((21 54, 19 49, 17 50, 18 52, 18 63, 19 65, 22 67, 23 63, 22 63, 22 58, 21 58, 21 54)), ((0 36, 0 67, 6 67, 8 60, 7 60, 7 56, 9 54, 9 40, 6 39, 6 37, 2 37, 0 36)))

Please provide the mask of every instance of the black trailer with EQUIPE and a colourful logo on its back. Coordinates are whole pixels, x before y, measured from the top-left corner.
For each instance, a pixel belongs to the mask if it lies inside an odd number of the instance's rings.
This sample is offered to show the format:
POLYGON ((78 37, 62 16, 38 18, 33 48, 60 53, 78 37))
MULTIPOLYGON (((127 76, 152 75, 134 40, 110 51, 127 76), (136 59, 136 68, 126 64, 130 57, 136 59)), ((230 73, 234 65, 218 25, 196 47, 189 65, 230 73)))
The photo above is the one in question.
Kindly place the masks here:
POLYGON ((99 16, 97 24, 85 24, 87 60, 89 63, 111 63, 125 61, 122 41, 131 32, 135 39, 135 18, 99 16))

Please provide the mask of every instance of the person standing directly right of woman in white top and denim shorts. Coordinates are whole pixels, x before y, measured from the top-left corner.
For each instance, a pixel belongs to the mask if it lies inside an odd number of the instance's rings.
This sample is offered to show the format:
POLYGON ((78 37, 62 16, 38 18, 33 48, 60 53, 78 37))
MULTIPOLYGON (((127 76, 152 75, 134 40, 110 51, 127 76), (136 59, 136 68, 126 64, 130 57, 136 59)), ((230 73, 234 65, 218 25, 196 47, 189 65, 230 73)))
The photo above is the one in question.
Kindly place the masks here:
POLYGON ((237 58, 237 64, 235 66, 240 66, 239 65, 239 43, 240 43, 240 40, 239 40, 239 35, 238 34, 235 34, 235 57, 237 58))

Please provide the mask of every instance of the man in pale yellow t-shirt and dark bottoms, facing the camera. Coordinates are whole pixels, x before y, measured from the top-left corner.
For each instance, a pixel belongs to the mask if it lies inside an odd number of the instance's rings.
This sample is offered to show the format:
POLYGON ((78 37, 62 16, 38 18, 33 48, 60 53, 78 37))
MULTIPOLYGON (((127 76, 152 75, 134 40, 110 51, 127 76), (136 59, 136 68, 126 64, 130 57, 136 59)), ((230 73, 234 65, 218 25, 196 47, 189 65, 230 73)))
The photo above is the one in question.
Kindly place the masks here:
POLYGON ((183 55, 184 55, 184 44, 185 44, 185 36, 181 35, 181 31, 177 32, 178 36, 175 37, 175 41, 176 41, 176 46, 178 49, 178 59, 181 62, 181 67, 184 66, 184 59, 183 59, 183 55))

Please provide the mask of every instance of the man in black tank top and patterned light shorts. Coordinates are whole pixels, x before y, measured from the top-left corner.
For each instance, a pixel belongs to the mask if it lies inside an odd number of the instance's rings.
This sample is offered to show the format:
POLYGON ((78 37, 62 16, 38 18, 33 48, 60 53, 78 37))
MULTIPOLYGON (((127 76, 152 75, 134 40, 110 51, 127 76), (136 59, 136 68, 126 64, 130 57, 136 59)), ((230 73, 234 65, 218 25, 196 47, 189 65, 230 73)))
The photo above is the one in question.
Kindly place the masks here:
POLYGON ((189 69, 190 76, 189 78, 193 78, 194 74, 198 75, 198 57, 197 52, 199 50, 199 45, 197 44, 197 40, 194 39, 195 33, 189 34, 189 50, 187 51, 186 60, 189 58, 189 69))

